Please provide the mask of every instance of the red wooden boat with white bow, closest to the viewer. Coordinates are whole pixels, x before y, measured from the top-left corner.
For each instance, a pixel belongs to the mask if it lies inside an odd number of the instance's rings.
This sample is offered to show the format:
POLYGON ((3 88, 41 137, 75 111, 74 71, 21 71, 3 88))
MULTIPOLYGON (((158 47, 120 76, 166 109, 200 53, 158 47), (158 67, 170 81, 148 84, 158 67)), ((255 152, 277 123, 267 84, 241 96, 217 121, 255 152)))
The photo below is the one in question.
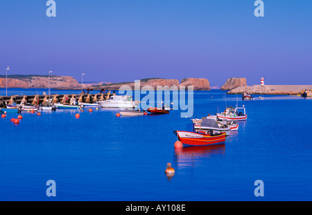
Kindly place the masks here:
POLYGON ((189 131, 173 131, 183 144, 183 147, 208 146, 224 144, 225 133, 205 134, 189 131))

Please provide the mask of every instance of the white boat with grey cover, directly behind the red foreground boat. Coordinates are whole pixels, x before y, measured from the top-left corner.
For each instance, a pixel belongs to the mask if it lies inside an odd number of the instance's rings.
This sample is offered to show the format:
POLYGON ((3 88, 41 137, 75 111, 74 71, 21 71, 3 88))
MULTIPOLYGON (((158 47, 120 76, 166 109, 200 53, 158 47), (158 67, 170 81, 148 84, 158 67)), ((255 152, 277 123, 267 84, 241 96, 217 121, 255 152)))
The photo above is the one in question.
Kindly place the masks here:
POLYGON ((200 124, 196 124, 196 120, 198 119, 191 119, 193 121, 194 130, 196 132, 198 131, 204 131, 205 133, 209 134, 216 134, 220 132, 225 132, 226 135, 229 135, 231 132, 231 129, 227 127, 225 124, 221 124, 220 122, 217 122, 213 118, 202 118, 202 122, 200 124))

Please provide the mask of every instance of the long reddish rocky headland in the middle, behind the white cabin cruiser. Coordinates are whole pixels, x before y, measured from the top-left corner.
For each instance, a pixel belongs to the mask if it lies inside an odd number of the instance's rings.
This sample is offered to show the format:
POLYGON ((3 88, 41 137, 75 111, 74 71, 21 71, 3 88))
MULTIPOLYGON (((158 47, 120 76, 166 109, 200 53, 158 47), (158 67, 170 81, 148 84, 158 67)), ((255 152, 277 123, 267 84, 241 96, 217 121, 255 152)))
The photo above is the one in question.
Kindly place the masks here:
MULTIPOLYGON (((130 86, 132 89, 135 89, 135 82, 122 82, 122 83, 115 83, 115 84, 105 84, 103 86, 94 86, 90 87, 94 90, 114 90, 118 91, 121 86, 130 86)), ((163 79, 163 78, 149 78, 140 80, 140 89, 144 86, 152 86, 154 90, 157 90, 157 86, 177 86, 179 89, 180 86, 193 86, 194 91, 209 91, 209 81, 204 78, 186 78, 182 80, 181 84, 178 80, 175 79, 163 79)))

